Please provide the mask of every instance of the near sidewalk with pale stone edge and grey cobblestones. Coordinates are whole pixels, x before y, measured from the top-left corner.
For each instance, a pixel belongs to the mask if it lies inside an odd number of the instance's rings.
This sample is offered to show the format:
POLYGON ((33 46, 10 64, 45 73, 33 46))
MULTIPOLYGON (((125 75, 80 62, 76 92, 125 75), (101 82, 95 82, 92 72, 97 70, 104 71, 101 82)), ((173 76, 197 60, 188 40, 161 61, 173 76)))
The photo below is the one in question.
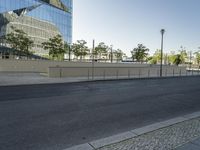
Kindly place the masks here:
POLYGON ((200 139, 194 141, 199 137, 200 112, 195 112, 65 150, 200 150, 200 139))

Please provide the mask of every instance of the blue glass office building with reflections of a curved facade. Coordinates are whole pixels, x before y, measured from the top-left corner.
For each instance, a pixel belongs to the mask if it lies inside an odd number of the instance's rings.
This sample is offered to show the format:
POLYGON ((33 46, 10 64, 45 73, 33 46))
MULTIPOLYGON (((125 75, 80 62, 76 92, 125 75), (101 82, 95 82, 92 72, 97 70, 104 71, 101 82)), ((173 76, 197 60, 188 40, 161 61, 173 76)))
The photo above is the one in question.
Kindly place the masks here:
POLYGON ((72 42, 72 0, 0 0, 0 44, 8 46, 5 35, 21 29, 34 41, 38 55, 48 52, 42 43, 60 34, 72 42))

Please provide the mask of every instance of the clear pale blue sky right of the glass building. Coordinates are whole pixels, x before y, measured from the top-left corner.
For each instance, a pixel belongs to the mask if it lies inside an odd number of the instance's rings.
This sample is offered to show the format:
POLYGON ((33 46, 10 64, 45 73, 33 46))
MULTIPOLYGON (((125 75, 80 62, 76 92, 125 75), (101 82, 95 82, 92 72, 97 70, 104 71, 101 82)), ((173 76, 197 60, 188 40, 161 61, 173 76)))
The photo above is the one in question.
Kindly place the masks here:
POLYGON ((200 47, 200 0, 74 0, 73 5, 73 42, 84 39, 92 47, 95 39, 129 56, 141 43, 153 53, 164 28, 165 52, 200 47))

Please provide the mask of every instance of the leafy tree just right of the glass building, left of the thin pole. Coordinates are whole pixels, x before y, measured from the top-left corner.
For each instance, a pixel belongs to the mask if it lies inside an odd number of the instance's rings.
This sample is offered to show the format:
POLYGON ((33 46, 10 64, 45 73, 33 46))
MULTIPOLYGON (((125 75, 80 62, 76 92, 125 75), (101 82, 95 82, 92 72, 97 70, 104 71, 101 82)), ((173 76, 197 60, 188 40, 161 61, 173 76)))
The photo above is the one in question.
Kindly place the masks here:
POLYGON ((86 44, 87 42, 85 40, 78 40, 77 43, 72 44, 72 51, 76 57, 80 57, 80 60, 82 60, 82 57, 86 56, 89 52, 86 44))

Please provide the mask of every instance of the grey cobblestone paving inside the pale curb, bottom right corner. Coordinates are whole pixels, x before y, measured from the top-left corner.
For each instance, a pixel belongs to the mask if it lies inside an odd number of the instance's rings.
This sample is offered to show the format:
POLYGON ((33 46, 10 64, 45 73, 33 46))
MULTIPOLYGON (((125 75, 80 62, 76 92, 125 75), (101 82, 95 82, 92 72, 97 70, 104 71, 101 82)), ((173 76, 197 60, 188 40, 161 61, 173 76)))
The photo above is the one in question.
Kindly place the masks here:
MULTIPOLYGON (((143 134, 116 144, 101 147, 98 150, 173 150, 189 141, 197 139, 199 136, 200 118, 197 118, 143 134)), ((193 150, 190 146, 191 143, 190 145, 186 145, 186 149, 193 150)), ((192 146, 196 147, 194 144, 192 146)), ((186 149, 184 149, 184 147, 179 147, 176 150, 186 149)))

